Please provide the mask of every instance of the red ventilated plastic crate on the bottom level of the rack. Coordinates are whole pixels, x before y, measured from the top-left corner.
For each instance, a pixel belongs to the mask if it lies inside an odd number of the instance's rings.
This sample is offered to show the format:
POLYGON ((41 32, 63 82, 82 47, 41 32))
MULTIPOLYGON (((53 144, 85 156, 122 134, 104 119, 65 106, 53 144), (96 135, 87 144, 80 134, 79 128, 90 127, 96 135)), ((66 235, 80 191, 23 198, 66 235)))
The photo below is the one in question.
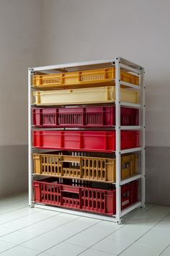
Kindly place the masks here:
MULTIPOLYGON (((122 209, 132 204, 132 184, 122 186, 122 209)), ((84 210, 92 213, 112 216, 116 212, 116 190, 91 187, 91 184, 71 184, 71 180, 59 183, 58 179, 48 178, 33 182, 35 202, 55 205, 63 208, 84 210)), ((137 188, 137 186, 136 186, 137 188)))

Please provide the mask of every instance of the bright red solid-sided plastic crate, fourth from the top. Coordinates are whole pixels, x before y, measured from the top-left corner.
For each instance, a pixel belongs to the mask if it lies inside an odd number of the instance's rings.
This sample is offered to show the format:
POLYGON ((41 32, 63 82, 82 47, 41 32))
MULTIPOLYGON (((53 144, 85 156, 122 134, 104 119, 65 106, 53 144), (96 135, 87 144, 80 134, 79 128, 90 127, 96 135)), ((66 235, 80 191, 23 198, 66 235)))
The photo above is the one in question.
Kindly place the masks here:
MULTIPOLYGON (((121 131, 121 149, 140 146, 139 131, 121 131)), ((115 151, 115 131, 34 130, 33 147, 56 150, 115 151)))

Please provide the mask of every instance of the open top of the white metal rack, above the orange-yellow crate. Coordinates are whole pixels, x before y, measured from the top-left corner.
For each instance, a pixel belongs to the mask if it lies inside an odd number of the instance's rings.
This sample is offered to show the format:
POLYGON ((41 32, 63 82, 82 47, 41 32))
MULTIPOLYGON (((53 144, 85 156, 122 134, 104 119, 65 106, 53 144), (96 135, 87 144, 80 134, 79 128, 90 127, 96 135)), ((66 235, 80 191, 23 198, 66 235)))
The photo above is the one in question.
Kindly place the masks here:
POLYGON ((143 69, 138 64, 135 64, 131 61, 123 59, 121 57, 112 58, 112 59, 103 59, 97 61, 83 61, 83 62, 75 62, 75 63, 68 63, 68 64, 56 64, 51 66, 44 66, 44 67, 31 67, 29 69, 33 69, 35 72, 71 72, 71 71, 79 71, 79 70, 86 70, 86 69, 102 69, 105 67, 112 67, 115 64, 116 59, 120 60, 121 64, 127 65, 128 67, 132 67, 134 69, 143 69))

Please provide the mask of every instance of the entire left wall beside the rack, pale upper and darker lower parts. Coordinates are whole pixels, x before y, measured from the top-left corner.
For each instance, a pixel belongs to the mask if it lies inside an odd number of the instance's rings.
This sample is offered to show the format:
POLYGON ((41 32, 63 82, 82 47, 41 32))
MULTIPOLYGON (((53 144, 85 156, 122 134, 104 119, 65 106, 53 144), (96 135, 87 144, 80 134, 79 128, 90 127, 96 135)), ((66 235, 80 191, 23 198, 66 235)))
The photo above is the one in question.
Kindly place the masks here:
POLYGON ((27 68, 38 65, 41 0, 0 0, 0 197, 27 191, 27 68))

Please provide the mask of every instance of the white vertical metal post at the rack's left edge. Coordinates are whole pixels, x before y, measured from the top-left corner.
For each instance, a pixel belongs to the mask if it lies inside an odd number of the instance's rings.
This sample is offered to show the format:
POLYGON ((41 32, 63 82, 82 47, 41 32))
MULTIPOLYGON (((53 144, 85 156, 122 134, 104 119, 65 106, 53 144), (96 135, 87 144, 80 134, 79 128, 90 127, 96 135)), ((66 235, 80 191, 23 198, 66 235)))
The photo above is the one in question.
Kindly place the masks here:
POLYGON ((32 69, 28 69, 28 199, 30 207, 32 205, 32 89, 31 89, 32 69))

